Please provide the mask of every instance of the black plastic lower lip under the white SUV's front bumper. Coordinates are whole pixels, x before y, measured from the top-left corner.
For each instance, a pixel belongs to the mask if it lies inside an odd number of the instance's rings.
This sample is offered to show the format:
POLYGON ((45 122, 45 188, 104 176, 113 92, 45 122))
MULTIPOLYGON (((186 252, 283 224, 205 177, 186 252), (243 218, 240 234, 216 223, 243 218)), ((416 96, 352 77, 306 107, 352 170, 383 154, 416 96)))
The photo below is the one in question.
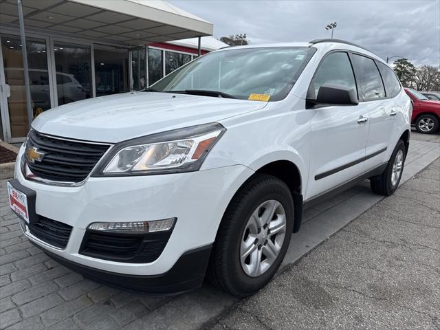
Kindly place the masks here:
POLYGON ((171 296, 200 287, 205 277, 212 249, 212 245, 210 244, 195 250, 190 250, 182 254, 177 260, 177 263, 175 263, 168 272, 145 276, 98 270, 97 268, 81 265, 65 259, 58 254, 45 250, 41 245, 35 243, 34 245, 41 248, 48 256, 58 261, 58 263, 61 263, 61 265, 83 274, 91 280, 104 283, 111 287, 152 296, 171 296))

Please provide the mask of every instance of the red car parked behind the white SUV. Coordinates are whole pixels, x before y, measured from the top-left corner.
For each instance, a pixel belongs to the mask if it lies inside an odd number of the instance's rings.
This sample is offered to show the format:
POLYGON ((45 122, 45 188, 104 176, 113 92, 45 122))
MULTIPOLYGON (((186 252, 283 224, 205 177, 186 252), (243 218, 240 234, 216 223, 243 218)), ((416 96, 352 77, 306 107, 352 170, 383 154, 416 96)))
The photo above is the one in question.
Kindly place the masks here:
POLYGON ((412 100, 411 123, 420 133, 432 134, 439 131, 440 101, 429 100, 419 91, 405 88, 412 100))

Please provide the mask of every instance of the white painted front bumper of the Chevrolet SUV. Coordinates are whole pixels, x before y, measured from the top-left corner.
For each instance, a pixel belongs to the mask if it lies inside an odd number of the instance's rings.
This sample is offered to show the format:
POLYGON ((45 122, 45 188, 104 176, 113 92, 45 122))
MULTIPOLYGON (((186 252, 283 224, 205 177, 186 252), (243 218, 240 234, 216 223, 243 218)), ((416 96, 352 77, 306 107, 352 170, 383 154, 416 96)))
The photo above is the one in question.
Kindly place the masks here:
MULTIPOLYGON (((23 148, 18 159, 22 155, 23 148)), ((113 278, 118 278, 118 274, 134 278, 162 276, 172 270, 186 252, 210 246, 225 208, 253 173, 246 166, 236 165, 168 175, 90 177, 82 186, 62 187, 25 179, 18 164, 15 177, 36 192, 36 214, 72 226, 65 249, 47 244, 25 230, 26 236, 54 259, 61 258, 74 268, 79 265, 78 270, 83 267, 114 274, 110 276, 113 278), (177 221, 170 239, 162 254, 151 263, 116 262, 79 253, 90 223, 172 217, 177 221)))

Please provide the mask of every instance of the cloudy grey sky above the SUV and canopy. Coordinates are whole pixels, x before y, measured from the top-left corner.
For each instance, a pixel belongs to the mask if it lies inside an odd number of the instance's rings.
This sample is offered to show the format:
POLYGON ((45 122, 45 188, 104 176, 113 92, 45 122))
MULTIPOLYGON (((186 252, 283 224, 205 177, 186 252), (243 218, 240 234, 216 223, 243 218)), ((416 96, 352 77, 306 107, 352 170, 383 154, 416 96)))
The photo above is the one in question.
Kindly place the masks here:
MULTIPOLYGON (((440 63, 440 0, 262 1, 168 0, 214 23, 214 36, 248 34, 252 44, 330 38, 358 43, 415 65, 440 63)), ((395 61, 394 58, 392 61, 395 61)))

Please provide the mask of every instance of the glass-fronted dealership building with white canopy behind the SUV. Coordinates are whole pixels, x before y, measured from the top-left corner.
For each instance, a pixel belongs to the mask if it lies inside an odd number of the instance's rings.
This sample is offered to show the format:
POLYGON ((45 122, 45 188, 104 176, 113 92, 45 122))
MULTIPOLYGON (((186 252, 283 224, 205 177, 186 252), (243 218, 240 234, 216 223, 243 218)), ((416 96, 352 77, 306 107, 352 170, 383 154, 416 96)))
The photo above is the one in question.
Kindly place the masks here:
POLYGON ((0 140, 7 142, 22 142, 42 111, 144 89, 226 46, 212 37, 212 23, 147 0, 0 0, 0 42, 0 140))

